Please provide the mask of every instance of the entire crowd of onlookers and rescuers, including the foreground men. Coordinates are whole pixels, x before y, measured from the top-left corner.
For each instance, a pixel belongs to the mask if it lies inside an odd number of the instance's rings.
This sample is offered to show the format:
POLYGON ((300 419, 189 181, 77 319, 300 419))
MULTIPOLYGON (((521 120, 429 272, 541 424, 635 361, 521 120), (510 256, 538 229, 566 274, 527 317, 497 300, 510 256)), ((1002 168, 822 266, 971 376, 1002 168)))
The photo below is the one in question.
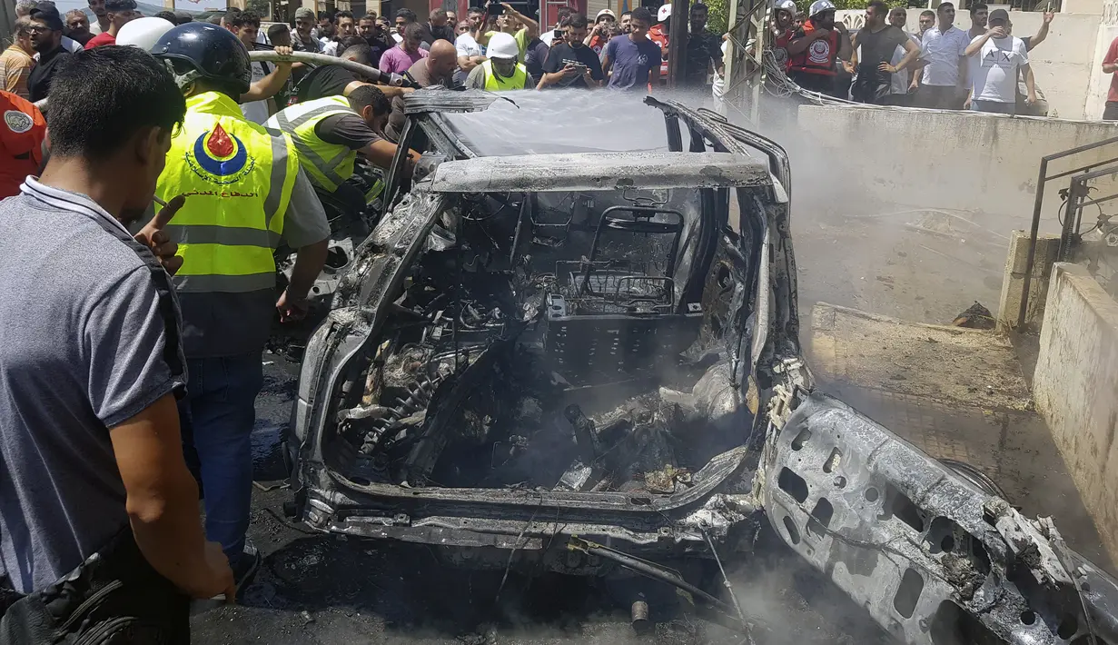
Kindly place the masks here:
MULTIPOLYGON (((807 16, 778 2, 773 56, 802 87, 1010 114, 1006 79, 1023 74, 1034 98, 1027 51, 1051 22, 1018 39, 979 4, 965 34, 944 2, 906 34, 903 11, 871 0, 851 35, 830 0, 807 16)), ((415 168, 409 92, 656 92, 672 37, 670 4, 593 25, 561 9, 542 34, 509 4, 392 23, 300 9, 265 34, 250 11, 89 7, 95 23, 20 0, 0 56, 0 645, 184 642, 191 598, 231 601, 250 579, 262 353, 277 315, 307 313, 328 208, 361 210, 382 189, 354 181, 359 158, 415 168), (297 255, 277 285, 281 245, 297 255)), ((704 91, 724 47, 707 21, 691 4, 676 75, 704 91)))

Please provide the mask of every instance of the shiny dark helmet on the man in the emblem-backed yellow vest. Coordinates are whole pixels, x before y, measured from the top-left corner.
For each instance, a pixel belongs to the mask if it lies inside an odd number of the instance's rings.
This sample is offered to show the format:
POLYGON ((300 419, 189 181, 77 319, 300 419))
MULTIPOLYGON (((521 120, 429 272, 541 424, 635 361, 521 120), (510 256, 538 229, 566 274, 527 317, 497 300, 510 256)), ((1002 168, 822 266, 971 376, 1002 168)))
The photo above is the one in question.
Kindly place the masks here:
POLYGON ((182 60, 201 78, 217 80, 244 94, 253 83, 248 49, 228 29, 209 22, 187 22, 163 35, 151 48, 157 58, 182 60))

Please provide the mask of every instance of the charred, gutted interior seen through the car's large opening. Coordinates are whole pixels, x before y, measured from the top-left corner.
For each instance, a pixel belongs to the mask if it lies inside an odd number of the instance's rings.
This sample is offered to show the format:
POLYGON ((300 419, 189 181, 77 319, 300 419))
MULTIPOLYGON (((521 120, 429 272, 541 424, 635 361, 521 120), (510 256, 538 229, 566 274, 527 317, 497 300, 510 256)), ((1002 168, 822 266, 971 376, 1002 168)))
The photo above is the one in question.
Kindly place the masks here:
POLYGON ((694 192, 463 196, 343 386, 328 466, 358 485, 690 486, 749 426, 711 415, 735 397, 702 331, 732 285, 692 275, 694 192))

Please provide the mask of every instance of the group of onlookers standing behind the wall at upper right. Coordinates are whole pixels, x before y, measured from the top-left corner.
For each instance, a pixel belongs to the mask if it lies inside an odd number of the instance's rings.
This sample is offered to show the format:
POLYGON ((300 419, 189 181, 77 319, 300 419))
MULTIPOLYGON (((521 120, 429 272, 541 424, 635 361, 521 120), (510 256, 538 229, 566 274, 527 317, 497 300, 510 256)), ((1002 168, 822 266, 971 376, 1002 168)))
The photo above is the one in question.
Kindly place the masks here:
POLYGON ((941 2, 908 32, 904 8, 870 0, 864 26, 851 34, 835 21, 831 0, 816 0, 806 16, 779 0, 773 58, 802 88, 859 103, 1011 115, 1034 104, 1029 51, 1048 37, 1054 15, 1044 13, 1036 35, 1018 38, 1004 9, 977 2, 969 11, 967 31, 955 27, 955 4, 941 2))

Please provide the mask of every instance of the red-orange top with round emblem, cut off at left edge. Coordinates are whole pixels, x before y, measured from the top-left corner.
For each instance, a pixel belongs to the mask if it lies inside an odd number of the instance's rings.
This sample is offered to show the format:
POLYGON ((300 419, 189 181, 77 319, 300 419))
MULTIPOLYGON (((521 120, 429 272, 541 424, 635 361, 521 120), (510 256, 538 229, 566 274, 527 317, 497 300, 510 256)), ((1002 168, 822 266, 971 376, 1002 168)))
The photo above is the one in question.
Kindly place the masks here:
POLYGON ((0 199, 19 195, 19 184, 42 163, 47 122, 30 101, 0 91, 0 199))

